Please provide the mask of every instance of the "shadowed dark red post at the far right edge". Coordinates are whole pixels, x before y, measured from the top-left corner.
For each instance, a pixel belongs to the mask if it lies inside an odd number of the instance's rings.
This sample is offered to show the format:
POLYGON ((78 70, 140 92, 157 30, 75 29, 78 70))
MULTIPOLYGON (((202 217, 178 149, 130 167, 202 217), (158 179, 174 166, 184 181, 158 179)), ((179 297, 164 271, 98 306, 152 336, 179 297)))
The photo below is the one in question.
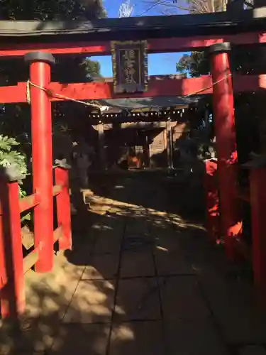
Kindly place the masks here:
POLYGON ((266 167, 250 170, 254 283, 266 295, 266 167))

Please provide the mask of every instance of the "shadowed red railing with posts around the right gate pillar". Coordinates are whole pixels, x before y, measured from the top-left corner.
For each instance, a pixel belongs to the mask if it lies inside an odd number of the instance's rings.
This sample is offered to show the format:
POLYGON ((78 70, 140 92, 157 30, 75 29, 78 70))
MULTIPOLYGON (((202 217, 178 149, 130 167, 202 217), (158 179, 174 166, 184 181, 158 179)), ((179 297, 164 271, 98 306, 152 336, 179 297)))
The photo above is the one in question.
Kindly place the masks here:
MULTIPOLYGON (((266 162, 265 162, 266 163, 266 162)), ((218 235, 223 234, 221 224, 219 224, 218 213, 218 185, 215 181, 215 174, 213 169, 214 163, 206 162, 206 178, 205 178, 205 191, 206 191, 206 212, 209 236, 212 240, 217 241, 218 235), (215 197, 215 204, 214 204, 215 197), (213 208, 211 208, 213 207, 213 208), (216 214, 213 213, 215 207, 216 214), (218 226, 218 228, 217 228, 218 226), (214 232, 215 231, 215 232, 214 232)), ((266 295, 266 166, 256 165, 256 162, 246 164, 245 168, 250 169, 249 173, 249 186, 247 189, 238 191, 238 198, 240 201, 250 203, 251 211, 251 233, 252 233, 252 246, 250 247, 241 233, 238 238, 232 238, 232 246, 235 258, 239 256, 250 261, 253 266, 253 280, 260 295, 266 295)), ((213 169, 215 170, 215 169, 213 169)), ((239 222, 239 225, 242 221, 239 222)), ((240 230, 240 229, 239 229, 240 230)))

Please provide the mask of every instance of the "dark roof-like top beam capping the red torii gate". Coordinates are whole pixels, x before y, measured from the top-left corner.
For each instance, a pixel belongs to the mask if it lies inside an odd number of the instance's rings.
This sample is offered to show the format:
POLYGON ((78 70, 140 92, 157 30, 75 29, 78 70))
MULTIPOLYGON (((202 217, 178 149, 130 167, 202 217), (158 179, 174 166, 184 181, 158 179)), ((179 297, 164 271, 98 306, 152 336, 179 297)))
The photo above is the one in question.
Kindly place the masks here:
POLYGON ((266 7, 176 16, 103 18, 93 21, 0 21, 1 41, 137 40, 180 34, 222 35, 266 30, 266 7))

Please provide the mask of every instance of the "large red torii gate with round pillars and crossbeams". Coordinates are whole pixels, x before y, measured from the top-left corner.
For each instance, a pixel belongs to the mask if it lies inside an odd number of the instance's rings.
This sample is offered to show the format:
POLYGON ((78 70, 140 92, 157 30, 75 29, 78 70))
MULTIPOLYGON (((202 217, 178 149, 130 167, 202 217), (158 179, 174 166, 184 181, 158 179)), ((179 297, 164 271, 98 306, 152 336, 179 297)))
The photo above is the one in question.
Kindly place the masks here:
MULTIPOLYGON (((18 83, 12 87, 0 88, 0 102, 31 102, 32 121, 32 146, 33 146, 33 192, 31 202, 27 206, 35 208, 35 250, 38 259, 35 263, 36 271, 48 272, 52 268, 53 245, 55 235, 53 231, 53 207, 52 197, 57 195, 56 188, 52 187, 52 100, 85 100, 85 99, 108 99, 112 97, 154 97, 165 95, 191 95, 191 94, 213 94, 214 122, 216 133, 216 144, 218 150, 218 182, 220 191, 220 210, 222 228, 221 233, 225 239, 226 255, 229 260, 235 258, 233 240, 240 236, 240 215, 238 208, 238 192, 236 187, 236 165, 237 153, 235 143, 235 118, 233 109, 233 89, 236 92, 255 91, 266 88, 265 75, 257 76, 235 76, 232 85, 231 71, 228 61, 228 52, 231 43, 265 43, 266 33, 244 33, 239 35, 225 35, 223 37, 212 36, 211 38, 170 38, 170 39, 148 39, 148 48, 152 52, 177 52, 180 50, 193 50, 194 48, 208 48, 211 60, 211 77, 199 77, 194 79, 151 81, 148 92, 143 94, 113 94, 111 83, 92 82, 81 84, 60 84, 50 82, 50 66, 55 64, 52 54, 74 54, 82 55, 107 54, 110 53, 110 43, 48 43, 48 44, 22 44, 7 45, 0 49, 0 55, 10 58, 25 55, 26 62, 30 65, 30 80, 28 83, 18 83)), ((71 247, 70 236, 70 209, 67 178, 62 177, 62 171, 57 173, 61 190, 61 209, 58 212, 60 225, 65 228, 61 249, 71 247), (60 173, 61 172, 61 173, 60 173), (61 174, 61 175, 60 175, 61 174), (63 202, 65 206, 63 207, 63 202)), ((6 188, 6 183, 1 184, 1 195, 6 188)), ((9 217, 9 231, 13 242, 11 251, 11 266, 13 269, 13 294, 5 293, 2 288, 1 297, 6 302, 11 302, 2 312, 3 315, 17 315, 23 312, 23 272, 22 254, 18 249, 21 243, 18 238, 20 234, 19 212, 23 209, 21 203, 15 203, 12 207, 11 200, 17 197, 17 187, 13 183, 7 184, 9 197, 6 206, 6 216, 9 217), (12 190, 13 189, 13 190, 12 190), (11 297, 12 296, 12 297, 11 297), (12 299, 12 300, 11 300, 12 299)), ((24 200, 26 203, 26 201, 24 200)), ((3 201, 4 203, 4 201, 3 201)), ((25 209, 25 208, 24 208, 25 209)), ((19 236, 20 237, 20 236, 19 236)), ((21 246, 21 245, 20 245, 21 246)), ((264 250, 257 248, 254 256, 257 258, 264 250)), ((1 259, 1 258, 0 258, 1 259)), ((255 263, 254 263, 255 265, 255 263)), ((4 270, 4 266, 2 266, 4 270)), ((262 275, 264 265, 262 262, 257 265, 256 275, 262 275)), ((260 283, 265 283, 265 275, 257 278, 260 283)))

